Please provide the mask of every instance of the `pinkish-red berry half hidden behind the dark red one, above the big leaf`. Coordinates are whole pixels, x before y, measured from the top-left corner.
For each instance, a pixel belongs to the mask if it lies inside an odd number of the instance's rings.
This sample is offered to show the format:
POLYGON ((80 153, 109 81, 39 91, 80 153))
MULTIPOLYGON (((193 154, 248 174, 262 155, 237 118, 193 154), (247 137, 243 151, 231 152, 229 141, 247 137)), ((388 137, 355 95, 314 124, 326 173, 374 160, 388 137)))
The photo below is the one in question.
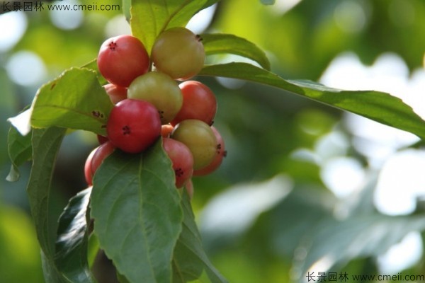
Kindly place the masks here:
POLYGON ((193 156, 191 151, 182 142, 175 139, 162 140, 164 151, 173 163, 176 176, 176 187, 182 187, 191 178, 193 173, 193 156))

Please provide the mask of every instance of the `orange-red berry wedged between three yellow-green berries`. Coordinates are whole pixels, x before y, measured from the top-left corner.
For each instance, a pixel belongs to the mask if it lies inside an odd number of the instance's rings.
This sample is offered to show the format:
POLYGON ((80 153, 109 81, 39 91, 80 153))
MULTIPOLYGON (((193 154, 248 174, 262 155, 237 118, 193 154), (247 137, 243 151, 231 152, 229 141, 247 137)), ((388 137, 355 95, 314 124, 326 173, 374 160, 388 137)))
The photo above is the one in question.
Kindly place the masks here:
POLYGON ((217 100, 211 89, 199 81, 185 81, 179 87, 183 94, 183 105, 171 125, 188 119, 198 119, 212 125, 217 112, 217 100))

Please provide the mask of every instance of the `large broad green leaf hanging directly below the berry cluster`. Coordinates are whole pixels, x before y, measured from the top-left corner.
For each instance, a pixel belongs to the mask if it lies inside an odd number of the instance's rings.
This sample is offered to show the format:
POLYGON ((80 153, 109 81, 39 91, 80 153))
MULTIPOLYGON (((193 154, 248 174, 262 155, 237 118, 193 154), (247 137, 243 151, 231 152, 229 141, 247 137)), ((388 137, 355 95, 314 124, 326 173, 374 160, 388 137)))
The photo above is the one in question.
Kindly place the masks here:
POLYGON ((171 282, 183 214, 162 140, 142 154, 114 151, 93 183, 94 233, 118 272, 129 282, 171 282))

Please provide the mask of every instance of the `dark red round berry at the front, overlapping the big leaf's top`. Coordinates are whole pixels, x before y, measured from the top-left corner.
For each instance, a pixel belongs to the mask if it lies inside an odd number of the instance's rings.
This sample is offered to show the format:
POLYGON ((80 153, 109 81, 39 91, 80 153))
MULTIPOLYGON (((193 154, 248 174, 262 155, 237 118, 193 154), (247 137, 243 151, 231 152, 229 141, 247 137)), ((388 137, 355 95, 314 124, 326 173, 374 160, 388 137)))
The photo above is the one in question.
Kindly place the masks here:
POLYGON ((106 132, 119 149, 130 154, 144 151, 161 135, 158 110, 147 101, 122 100, 112 108, 106 132))

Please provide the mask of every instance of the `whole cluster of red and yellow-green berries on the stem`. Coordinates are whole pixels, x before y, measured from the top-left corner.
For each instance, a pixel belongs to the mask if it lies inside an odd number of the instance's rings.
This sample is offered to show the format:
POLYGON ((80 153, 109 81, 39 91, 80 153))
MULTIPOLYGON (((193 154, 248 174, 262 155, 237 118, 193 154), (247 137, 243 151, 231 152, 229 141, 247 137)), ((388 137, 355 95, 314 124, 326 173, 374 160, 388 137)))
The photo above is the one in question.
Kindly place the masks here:
POLYGON ((173 164, 176 187, 186 184, 193 190, 192 175, 206 175, 220 166, 226 151, 220 133, 212 127, 215 95, 205 84, 188 81, 204 61, 200 37, 186 28, 161 33, 150 58, 142 42, 131 35, 103 42, 97 64, 109 82, 104 88, 114 107, 107 137, 98 136, 101 145, 86 160, 89 185, 103 159, 116 148, 136 154, 161 137, 173 164))

